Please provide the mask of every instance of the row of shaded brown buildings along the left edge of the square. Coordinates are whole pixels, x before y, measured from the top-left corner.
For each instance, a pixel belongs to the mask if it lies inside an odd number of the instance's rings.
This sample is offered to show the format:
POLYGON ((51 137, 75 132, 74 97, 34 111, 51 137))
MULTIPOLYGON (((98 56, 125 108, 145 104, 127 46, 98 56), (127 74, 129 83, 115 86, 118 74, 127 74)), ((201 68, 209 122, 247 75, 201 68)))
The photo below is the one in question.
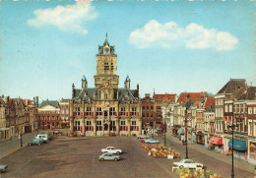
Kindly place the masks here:
POLYGON ((0 97, 0 141, 10 140, 37 129, 38 97, 30 99, 0 97))

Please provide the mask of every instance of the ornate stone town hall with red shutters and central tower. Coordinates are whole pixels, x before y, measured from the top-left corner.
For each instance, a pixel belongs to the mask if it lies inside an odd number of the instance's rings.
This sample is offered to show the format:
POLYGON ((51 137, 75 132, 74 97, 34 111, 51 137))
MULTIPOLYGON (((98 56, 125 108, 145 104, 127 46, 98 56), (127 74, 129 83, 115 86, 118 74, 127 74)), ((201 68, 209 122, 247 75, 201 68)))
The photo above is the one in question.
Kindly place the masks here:
POLYGON ((130 89, 127 76, 119 89, 116 75, 117 55, 107 38, 96 54, 96 88, 88 88, 86 77, 82 89, 72 85, 70 100, 71 136, 134 136, 142 129, 139 85, 130 89))

